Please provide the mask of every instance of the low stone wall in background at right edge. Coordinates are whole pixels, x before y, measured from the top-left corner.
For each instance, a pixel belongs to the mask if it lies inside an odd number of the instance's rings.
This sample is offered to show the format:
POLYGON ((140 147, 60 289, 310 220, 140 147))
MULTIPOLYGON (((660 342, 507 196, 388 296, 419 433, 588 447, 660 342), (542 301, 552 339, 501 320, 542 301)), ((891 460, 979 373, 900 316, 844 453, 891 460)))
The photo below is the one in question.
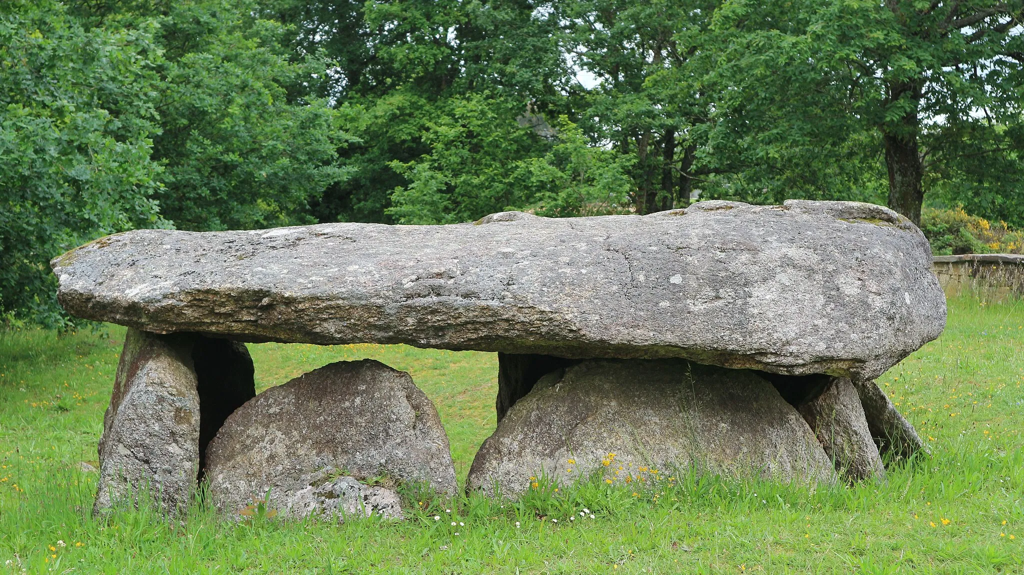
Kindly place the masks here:
POLYGON ((936 256, 932 270, 947 298, 968 293, 991 301, 1024 298, 1024 255, 936 256))

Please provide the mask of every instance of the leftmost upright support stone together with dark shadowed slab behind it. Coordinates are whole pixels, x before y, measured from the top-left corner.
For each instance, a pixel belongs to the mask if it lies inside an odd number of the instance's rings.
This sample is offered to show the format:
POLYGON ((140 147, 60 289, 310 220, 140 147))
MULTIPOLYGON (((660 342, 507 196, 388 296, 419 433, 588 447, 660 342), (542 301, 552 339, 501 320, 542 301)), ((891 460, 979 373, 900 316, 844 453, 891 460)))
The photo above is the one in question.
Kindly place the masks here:
POLYGON ((103 415, 93 511, 134 501, 139 492, 152 494, 168 513, 186 507, 201 469, 204 431, 219 428, 255 395, 252 374, 243 344, 129 329, 103 415), (225 348, 231 352, 220 353, 225 348), (208 365, 211 354, 218 357, 216 366, 208 365))

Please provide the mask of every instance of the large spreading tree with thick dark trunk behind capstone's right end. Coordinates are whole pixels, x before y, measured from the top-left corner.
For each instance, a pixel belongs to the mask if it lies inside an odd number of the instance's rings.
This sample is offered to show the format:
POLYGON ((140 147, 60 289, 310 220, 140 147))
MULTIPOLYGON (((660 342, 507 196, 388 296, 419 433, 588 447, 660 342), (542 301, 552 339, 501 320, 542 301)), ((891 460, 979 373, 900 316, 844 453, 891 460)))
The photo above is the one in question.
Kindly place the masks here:
MULTIPOLYGON (((873 131, 889 206, 920 222, 933 150, 965 125, 1019 123, 1022 17, 1020 0, 734 0, 715 28, 720 67, 743 99, 726 114, 799 102, 812 118, 849 122, 822 141, 873 131)), ((780 120, 776 129, 809 129, 799 114, 780 120)))

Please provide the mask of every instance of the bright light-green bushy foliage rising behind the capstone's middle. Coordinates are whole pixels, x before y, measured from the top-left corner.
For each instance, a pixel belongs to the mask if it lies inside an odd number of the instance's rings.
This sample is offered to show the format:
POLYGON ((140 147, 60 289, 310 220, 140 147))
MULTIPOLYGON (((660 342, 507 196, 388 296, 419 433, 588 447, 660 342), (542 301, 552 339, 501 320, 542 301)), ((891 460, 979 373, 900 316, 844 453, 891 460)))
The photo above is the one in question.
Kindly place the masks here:
POLYGON ((560 118, 557 143, 543 157, 530 158, 543 144, 536 141, 527 117, 496 110, 486 94, 451 103, 452 113, 424 135, 430 153, 392 163, 410 181, 394 190, 387 210, 398 222, 456 223, 523 209, 544 216, 626 209, 632 159, 590 146, 566 117, 560 118))

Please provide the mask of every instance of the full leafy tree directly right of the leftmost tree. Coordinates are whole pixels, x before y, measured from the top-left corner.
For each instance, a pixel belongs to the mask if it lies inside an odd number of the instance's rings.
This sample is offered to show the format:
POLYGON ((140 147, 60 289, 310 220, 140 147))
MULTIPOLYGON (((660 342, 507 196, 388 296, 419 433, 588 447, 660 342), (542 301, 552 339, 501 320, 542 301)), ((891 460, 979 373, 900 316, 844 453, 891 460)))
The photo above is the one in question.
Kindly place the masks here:
POLYGON ((348 141, 322 98, 290 87, 325 74, 326 61, 290 61, 286 29, 251 16, 254 2, 175 3, 160 18, 161 213, 182 229, 315 223, 308 202, 350 170, 348 141))

